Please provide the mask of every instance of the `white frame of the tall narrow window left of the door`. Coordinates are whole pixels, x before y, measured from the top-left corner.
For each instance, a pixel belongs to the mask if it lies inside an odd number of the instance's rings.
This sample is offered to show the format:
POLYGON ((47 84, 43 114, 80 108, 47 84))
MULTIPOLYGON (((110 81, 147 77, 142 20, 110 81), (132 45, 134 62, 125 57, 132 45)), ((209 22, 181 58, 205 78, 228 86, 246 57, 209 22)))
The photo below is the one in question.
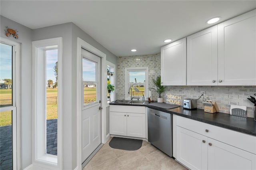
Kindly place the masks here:
POLYGON ((62 169, 62 38, 51 38, 32 42, 33 53, 33 164, 62 169), (55 46, 55 47, 54 47, 55 46), (56 48, 57 46, 57 48, 56 48), (48 49, 58 49, 58 154, 46 151, 46 56, 48 49), (43 63, 43 64, 42 64, 43 63))

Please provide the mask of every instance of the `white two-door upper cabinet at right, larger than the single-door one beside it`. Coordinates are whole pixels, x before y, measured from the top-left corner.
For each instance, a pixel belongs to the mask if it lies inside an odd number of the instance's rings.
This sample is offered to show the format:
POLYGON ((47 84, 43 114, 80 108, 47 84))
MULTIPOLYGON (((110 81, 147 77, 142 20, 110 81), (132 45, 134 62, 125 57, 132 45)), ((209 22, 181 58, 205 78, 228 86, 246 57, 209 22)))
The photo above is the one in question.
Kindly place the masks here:
POLYGON ((256 85, 256 10, 188 36, 187 85, 256 85))

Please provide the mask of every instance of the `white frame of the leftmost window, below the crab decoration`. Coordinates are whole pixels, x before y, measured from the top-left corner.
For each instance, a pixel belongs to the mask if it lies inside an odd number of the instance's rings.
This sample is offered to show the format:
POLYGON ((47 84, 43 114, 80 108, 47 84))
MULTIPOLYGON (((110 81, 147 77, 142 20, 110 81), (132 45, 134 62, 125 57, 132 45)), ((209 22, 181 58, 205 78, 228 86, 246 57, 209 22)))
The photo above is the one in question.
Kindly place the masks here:
POLYGON ((0 111, 10 111, 12 110, 14 114, 16 114, 16 117, 13 117, 12 122, 15 122, 16 124, 13 125, 12 123, 12 132, 16 132, 16 135, 12 135, 12 168, 13 169, 20 169, 20 162, 21 162, 21 157, 20 157, 20 151, 21 151, 21 147, 20 147, 20 143, 21 143, 21 137, 20 137, 20 133, 21 133, 21 126, 20 126, 20 43, 18 42, 14 42, 12 40, 9 40, 7 38, 0 38, 0 42, 1 43, 6 43, 8 45, 12 45, 13 49, 12 49, 12 65, 13 65, 13 69, 12 72, 13 77, 12 77, 12 85, 14 87, 13 89, 13 93, 12 93, 12 99, 13 99, 13 103, 12 103, 12 109, 9 109, 10 107, 4 107, 1 108, 0 111), (14 110, 14 107, 16 107, 16 109, 14 110), (16 152, 15 152, 16 151, 16 152))

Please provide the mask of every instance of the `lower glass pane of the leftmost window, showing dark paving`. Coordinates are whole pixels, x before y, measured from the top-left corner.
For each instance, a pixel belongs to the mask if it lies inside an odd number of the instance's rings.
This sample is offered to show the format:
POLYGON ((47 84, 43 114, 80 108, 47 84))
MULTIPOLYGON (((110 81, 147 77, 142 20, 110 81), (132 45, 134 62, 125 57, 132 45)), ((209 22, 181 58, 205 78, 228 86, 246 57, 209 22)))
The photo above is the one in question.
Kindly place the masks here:
POLYGON ((12 170, 12 111, 0 112, 0 170, 12 170))

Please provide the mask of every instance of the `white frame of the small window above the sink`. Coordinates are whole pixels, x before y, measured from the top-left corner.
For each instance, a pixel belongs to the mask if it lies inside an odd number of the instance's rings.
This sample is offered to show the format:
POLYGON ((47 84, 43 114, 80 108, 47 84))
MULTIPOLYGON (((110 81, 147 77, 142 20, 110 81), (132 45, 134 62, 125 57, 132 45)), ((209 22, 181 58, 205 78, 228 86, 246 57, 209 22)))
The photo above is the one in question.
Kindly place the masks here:
MULTIPOLYGON (((125 100, 131 99, 130 95, 128 94, 129 84, 130 84, 130 77, 129 77, 130 71, 145 71, 144 97, 146 99, 146 97, 148 97, 148 67, 130 67, 130 68, 125 68, 125 100)), ((140 97, 139 100, 142 100, 142 97, 140 97)))

